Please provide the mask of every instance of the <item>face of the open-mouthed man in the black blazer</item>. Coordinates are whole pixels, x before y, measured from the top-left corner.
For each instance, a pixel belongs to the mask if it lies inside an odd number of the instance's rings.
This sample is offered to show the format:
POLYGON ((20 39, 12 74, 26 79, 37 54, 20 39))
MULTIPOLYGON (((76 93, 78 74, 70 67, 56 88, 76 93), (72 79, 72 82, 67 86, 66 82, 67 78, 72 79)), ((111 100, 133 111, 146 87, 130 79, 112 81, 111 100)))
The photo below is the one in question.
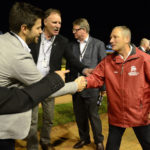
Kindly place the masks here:
POLYGON ((61 16, 55 12, 51 13, 44 19, 44 26, 48 36, 58 35, 61 28, 61 16))

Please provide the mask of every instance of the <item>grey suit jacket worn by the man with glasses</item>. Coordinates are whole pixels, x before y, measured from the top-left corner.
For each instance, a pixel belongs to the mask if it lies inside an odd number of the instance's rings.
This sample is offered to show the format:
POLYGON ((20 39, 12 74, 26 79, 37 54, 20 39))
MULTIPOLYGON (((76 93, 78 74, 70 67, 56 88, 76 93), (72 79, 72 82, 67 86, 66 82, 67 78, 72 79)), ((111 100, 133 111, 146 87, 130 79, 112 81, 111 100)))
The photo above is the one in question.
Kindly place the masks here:
MULTIPOLYGON (((71 43, 74 56, 79 60, 80 49, 79 43, 74 41, 71 43)), ((88 68, 95 68, 97 64, 106 56, 105 44, 93 37, 89 37, 89 43, 85 51, 82 63, 88 68)), ((73 81, 78 76, 78 70, 76 70, 71 64, 67 63, 67 68, 70 69, 70 73, 67 75, 67 81, 73 81)), ((105 90, 103 87, 101 90, 105 90)), ((80 94, 82 97, 93 97, 99 95, 100 89, 85 89, 80 94)))

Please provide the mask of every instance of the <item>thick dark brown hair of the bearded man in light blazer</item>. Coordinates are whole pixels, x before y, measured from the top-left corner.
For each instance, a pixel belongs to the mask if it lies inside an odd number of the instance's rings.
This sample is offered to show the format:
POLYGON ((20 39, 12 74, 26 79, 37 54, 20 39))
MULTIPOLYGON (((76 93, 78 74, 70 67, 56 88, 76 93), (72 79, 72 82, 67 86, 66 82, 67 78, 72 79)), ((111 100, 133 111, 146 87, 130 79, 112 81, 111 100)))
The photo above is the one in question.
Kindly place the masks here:
POLYGON ((43 18, 42 9, 25 2, 16 2, 9 12, 9 29, 16 34, 23 24, 31 29, 38 18, 43 18))

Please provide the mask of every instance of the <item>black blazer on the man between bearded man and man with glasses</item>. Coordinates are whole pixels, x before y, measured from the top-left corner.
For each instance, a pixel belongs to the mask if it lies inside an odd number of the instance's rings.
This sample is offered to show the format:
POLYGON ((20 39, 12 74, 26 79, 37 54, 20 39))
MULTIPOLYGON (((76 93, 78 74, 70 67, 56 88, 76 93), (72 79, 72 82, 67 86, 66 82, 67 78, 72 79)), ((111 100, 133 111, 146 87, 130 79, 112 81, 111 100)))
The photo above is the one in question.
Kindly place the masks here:
MULTIPOLYGON (((31 44, 29 47, 31 48, 31 54, 35 63, 38 61, 39 49, 40 49, 41 38, 39 39, 38 44, 31 44)), ((65 58, 73 67, 75 67, 79 72, 82 72, 85 66, 80 63, 72 54, 72 50, 69 47, 68 39, 57 35, 51 50, 50 56, 50 72, 61 69, 62 58, 65 58)))

